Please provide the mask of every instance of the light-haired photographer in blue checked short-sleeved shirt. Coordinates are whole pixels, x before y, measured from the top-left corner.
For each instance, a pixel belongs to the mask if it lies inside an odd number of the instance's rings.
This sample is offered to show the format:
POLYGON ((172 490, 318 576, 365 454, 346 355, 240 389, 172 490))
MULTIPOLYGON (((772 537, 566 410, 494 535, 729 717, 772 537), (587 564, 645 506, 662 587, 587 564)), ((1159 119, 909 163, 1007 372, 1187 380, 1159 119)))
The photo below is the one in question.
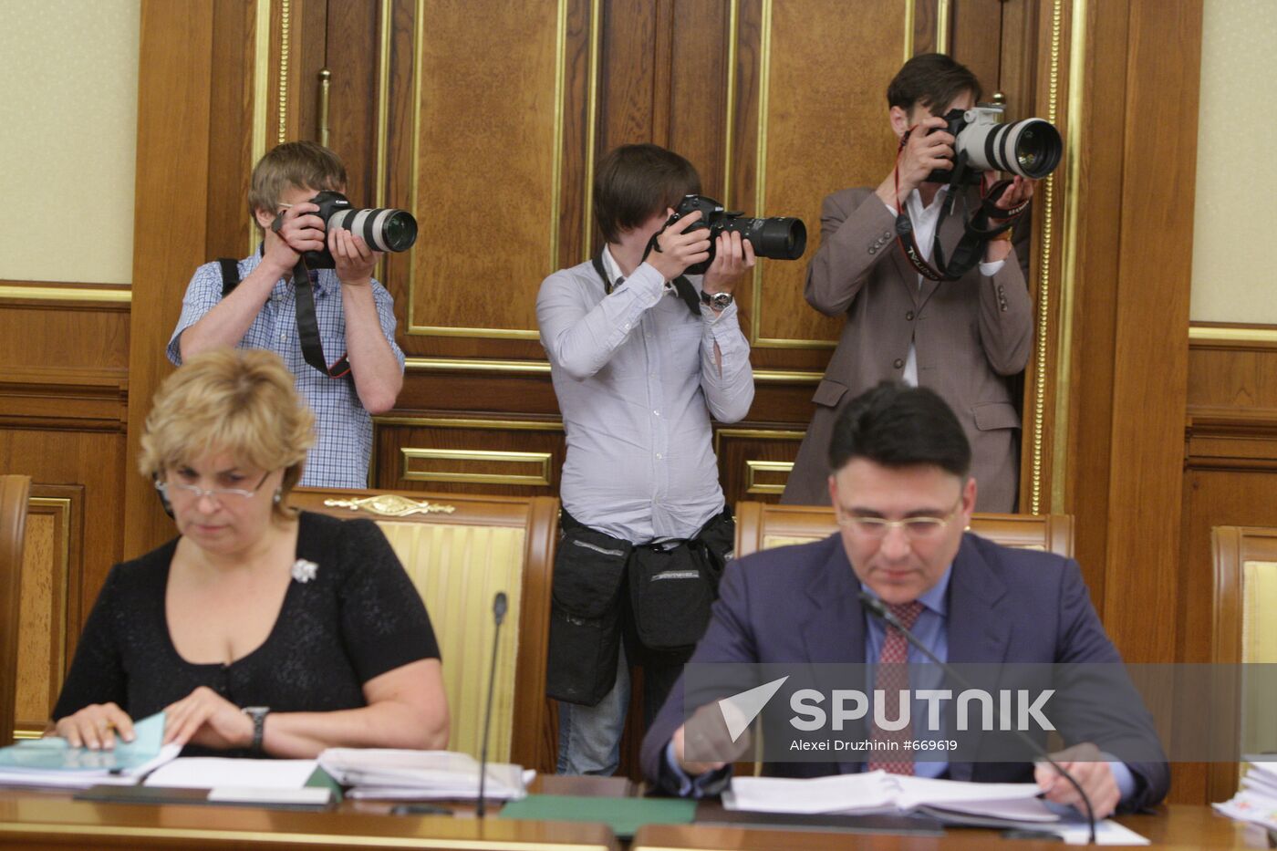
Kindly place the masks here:
POLYGON ((169 360, 209 349, 269 349, 296 377, 315 414, 315 443, 306 456, 301 486, 363 488, 373 447, 372 414, 395 406, 404 385, 404 353, 395 344, 391 294, 373 280, 381 258, 359 236, 341 229, 324 233, 309 203, 324 189, 346 190, 346 167, 336 153, 314 142, 289 142, 253 169, 248 204, 262 229, 261 250, 239 261, 239 285, 223 296, 217 262, 195 270, 181 303, 181 317, 169 340, 169 360), (282 213, 278 230, 272 222, 282 213), (329 363, 344 353, 345 377, 332 378, 306 364, 298 335, 292 267, 301 252, 327 243, 335 270, 310 272, 315 323, 329 363))

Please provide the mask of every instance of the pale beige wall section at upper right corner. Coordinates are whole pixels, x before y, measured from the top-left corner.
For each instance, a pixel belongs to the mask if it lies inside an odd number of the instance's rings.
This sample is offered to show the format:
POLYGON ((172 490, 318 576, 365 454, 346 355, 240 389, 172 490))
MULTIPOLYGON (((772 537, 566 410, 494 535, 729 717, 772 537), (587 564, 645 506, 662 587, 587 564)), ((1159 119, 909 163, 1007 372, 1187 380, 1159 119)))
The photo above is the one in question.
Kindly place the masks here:
POLYGON ((1277 3, 1207 0, 1190 308, 1197 322, 1277 325, 1274 49, 1277 3))

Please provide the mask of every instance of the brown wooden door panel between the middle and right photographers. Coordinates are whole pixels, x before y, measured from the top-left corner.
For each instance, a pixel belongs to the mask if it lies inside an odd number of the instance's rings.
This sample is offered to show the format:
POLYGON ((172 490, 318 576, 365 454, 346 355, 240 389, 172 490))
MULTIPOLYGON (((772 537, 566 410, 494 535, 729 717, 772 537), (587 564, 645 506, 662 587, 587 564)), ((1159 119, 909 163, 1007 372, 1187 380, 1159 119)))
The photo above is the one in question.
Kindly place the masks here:
POLYGON ((905 23, 903 4, 835 14, 824 1, 785 0, 762 3, 759 31, 742 32, 759 40, 757 97, 741 106, 757 124, 733 139, 748 170, 733 187, 733 204, 753 216, 799 216, 808 229, 805 258, 764 261, 755 290, 741 299, 756 346, 827 348, 842 330, 803 300, 806 261, 819 247, 821 199, 877 185, 891 170, 896 146, 882 92, 911 45, 905 23), (821 342, 799 342, 812 340, 821 342))

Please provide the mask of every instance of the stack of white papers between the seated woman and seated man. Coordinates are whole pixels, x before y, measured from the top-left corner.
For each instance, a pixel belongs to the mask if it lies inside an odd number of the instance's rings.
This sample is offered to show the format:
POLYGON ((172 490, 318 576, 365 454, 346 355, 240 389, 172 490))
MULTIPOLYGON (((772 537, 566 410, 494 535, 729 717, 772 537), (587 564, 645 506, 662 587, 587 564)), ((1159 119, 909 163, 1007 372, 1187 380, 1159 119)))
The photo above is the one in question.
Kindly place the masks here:
MULTIPOLYGON (((382 800, 442 800, 479 797, 479 763, 469 754, 447 750, 329 747, 319 767, 352 788, 347 797, 382 800)), ((536 772, 518 765, 488 763, 484 797, 513 801, 527 795, 536 772)))

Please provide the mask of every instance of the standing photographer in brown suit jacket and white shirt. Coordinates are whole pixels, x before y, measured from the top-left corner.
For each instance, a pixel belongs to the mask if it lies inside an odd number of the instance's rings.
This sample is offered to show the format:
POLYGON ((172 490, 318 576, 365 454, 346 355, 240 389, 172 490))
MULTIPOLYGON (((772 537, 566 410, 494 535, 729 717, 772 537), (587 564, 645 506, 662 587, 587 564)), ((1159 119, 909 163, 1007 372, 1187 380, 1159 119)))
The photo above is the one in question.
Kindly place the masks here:
MULTIPOLYGON (((931 281, 895 239, 896 211, 907 211, 925 259, 949 188, 928 183, 953 167, 954 137, 942 118, 981 97, 979 80, 942 54, 914 56, 888 86, 896 138, 909 133, 895 167, 879 188, 843 189, 825 198, 821 241, 807 268, 807 303, 845 316, 834 356, 812 401, 816 413, 798 448, 782 502, 829 502, 825 448, 840 408, 880 381, 930 387, 954 409, 973 450, 978 511, 1014 511, 1019 488, 1020 417, 1008 378, 1024 371, 1033 342, 1033 305, 1025 285, 1028 217, 985 247, 983 262, 956 281, 931 281)), ((1034 180, 1015 178, 996 206, 1013 210, 1034 180)), ((967 207, 979 204, 968 189, 967 207)), ((945 252, 963 233, 962 198, 940 229, 945 252)))

